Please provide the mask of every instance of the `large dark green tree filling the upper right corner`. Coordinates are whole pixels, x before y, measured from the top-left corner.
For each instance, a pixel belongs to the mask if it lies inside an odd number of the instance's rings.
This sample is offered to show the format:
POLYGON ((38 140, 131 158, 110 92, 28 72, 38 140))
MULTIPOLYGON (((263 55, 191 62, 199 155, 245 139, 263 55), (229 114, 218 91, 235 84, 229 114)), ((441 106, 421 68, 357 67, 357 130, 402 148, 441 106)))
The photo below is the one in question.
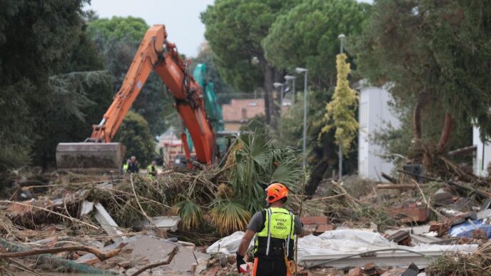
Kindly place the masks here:
POLYGON ((352 41, 360 72, 372 83, 392 83, 400 108, 414 107, 416 140, 425 138, 423 122, 443 122, 438 143, 432 140, 439 152, 455 124, 474 121, 491 134, 490 21, 484 0, 380 0, 367 29, 352 41), (422 120, 435 110, 440 116, 422 120))

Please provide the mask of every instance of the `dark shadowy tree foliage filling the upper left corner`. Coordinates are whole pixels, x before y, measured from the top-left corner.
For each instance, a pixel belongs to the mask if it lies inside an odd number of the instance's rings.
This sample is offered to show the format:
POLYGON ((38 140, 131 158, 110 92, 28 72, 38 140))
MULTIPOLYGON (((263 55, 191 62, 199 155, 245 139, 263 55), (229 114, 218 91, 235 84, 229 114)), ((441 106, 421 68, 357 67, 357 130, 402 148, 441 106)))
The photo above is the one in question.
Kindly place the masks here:
POLYGON ((39 113, 56 97, 49 76, 78 59, 87 2, 0 1, 0 170, 29 161, 39 113))

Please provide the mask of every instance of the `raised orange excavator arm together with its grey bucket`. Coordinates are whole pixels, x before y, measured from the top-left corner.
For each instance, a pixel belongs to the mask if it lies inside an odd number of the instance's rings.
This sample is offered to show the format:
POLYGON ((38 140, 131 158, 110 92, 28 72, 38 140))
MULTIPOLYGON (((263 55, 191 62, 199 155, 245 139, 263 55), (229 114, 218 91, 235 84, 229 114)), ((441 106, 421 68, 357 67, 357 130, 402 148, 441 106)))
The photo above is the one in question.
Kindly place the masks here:
MULTIPOLYGON (((59 169, 107 171, 121 167, 126 148, 111 141, 152 70, 162 78, 176 100, 174 106, 191 134, 196 160, 211 165, 215 133, 206 116, 202 88, 189 73, 188 64, 178 55, 176 45, 167 41, 166 27, 154 25, 143 37, 121 89, 101 123, 93 126, 91 137, 83 143, 59 143, 56 147, 59 169)), ((186 158, 190 160, 186 133, 181 133, 181 140, 186 158)))

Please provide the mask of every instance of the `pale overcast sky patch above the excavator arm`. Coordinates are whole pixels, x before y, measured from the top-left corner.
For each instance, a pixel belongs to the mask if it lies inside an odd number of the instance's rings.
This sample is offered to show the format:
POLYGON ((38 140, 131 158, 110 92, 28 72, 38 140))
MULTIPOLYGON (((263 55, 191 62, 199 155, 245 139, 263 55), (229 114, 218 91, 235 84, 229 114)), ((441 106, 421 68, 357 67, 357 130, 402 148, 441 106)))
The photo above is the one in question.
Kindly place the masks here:
MULTIPOLYGON (((372 2, 372 0, 359 0, 372 2)), ((205 41, 205 26, 199 15, 214 0, 91 0, 86 9, 96 11, 100 18, 112 16, 141 17, 148 25, 166 25, 168 40, 186 56, 196 56, 205 41)))

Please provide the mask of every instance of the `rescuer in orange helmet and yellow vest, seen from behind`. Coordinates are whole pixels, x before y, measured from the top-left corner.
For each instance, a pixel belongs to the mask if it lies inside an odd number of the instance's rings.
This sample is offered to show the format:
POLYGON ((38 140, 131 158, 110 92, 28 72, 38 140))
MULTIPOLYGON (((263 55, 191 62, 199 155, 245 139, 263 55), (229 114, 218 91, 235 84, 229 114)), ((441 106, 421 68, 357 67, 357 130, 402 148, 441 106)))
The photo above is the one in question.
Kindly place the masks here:
POLYGON ((244 255, 255 235, 252 275, 290 275, 295 270, 295 238, 303 237, 307 231, 303 230, 298 216, 283 208, 288 199, 285 185, 272 183, 266 188, 266 193, 269 207, 251 218, 238 247, 237 270, 243 272, 241 265, 246 264, 244 255))

